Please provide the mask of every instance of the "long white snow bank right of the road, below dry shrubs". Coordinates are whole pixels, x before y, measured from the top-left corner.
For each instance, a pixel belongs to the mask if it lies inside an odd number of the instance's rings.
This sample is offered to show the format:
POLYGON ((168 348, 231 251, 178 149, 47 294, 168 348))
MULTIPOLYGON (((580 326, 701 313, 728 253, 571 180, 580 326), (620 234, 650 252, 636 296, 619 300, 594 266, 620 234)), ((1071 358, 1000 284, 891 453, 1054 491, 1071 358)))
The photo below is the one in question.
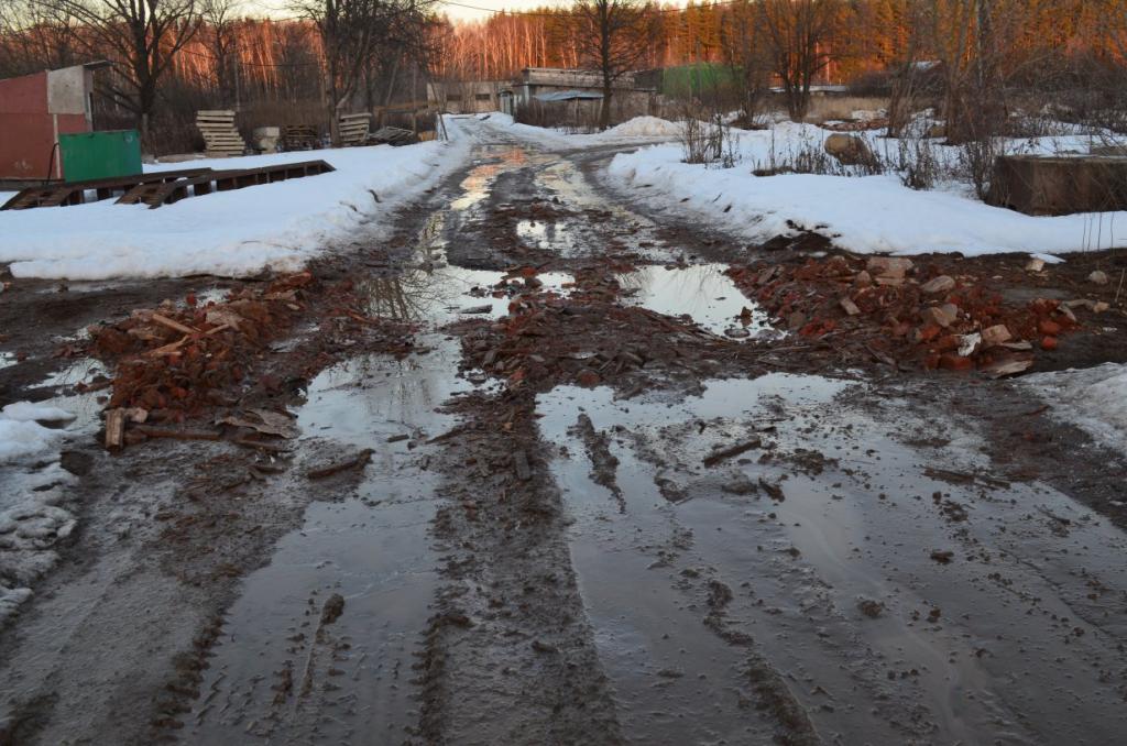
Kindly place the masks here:
MULTIPOLYGON (((703 216, 752 241, 816 230, 842 248, 862 254, 1064 254, 1091 248, 1085 247, 1085 237, 1101 222, 1104 236, 1115 222, 1127 224, 1127 213, 1032 217, 991 207, 961 189, 908 189, 895 175, 752 174, 754 168, 788 162, 789 156, 806 148, 820 148, 828 134, 792 123, 765 132, 739 132, 743 160, 731 169, 682 163, 680 146, 655 145, 615 156, 610 174, 650 205, 703 216)), ((1028 141, 1024 150, 1051 152, 1070 142, 1028 141)), ((875 148, 896 145, 882 141, 875 148)))

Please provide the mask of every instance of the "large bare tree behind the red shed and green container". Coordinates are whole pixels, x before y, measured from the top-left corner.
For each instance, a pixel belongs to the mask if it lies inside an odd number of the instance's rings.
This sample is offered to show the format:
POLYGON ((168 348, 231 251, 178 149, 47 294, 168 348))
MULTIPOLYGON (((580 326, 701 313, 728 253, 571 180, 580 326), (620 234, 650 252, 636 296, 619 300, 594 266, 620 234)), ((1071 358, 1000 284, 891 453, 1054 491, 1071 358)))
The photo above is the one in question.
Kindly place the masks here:
POLYGON ((157 107, 160 79, 199 29, 196 0, 39 0, 76 21, 76 46, 89 59, 118 65, 103 76, 104 94, 136 116, 143 139, 157 107))

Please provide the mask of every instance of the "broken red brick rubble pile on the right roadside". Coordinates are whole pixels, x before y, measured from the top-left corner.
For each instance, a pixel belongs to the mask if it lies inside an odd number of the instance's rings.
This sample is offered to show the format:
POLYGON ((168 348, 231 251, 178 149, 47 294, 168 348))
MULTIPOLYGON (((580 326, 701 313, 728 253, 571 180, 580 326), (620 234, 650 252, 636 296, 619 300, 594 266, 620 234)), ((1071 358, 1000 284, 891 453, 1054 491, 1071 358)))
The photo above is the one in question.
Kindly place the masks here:
MULTIPOLYGON (((877 359, 926 370, 1020 373, 1037 349, 1056 349, 1086 301, 1003 301, 974 275, 942 274, 905 257, 832 256, 801 265, 758 263, 729 276, 801 337, 861 343, 877 359)), ((1099 311, 1100 309, 1093 309, 1099 311)))

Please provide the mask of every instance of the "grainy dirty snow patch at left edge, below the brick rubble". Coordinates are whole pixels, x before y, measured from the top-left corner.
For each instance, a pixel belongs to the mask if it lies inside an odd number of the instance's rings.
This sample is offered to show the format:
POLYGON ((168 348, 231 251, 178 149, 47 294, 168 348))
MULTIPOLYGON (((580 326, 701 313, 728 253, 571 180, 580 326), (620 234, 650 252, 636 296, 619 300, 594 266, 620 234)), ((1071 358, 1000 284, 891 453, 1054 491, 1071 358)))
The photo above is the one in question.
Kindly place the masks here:
POLYGON ((29 586, 59 559, 53 545, 74 530, 62 504, 76 478, 59 462, 68 432, 39 424, 72 419, 27 401, 0 410, 0 623, 32 596, 29 586))

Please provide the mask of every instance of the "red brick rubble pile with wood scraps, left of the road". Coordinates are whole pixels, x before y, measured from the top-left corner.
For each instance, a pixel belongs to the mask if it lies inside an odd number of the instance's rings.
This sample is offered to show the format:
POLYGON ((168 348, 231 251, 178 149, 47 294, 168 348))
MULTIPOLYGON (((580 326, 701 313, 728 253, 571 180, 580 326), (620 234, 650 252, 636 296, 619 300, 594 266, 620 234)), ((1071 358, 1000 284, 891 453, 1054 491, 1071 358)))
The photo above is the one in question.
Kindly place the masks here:
POLYGON ((223 389, 241 382, 263 347, 304 310, 310 273, 287 275, 263 291, 242 290, 223 302, 166 301, 128 319, 90 327, 92 353, 116 362, 108 408, 198 414, 225 403, 223 389))

